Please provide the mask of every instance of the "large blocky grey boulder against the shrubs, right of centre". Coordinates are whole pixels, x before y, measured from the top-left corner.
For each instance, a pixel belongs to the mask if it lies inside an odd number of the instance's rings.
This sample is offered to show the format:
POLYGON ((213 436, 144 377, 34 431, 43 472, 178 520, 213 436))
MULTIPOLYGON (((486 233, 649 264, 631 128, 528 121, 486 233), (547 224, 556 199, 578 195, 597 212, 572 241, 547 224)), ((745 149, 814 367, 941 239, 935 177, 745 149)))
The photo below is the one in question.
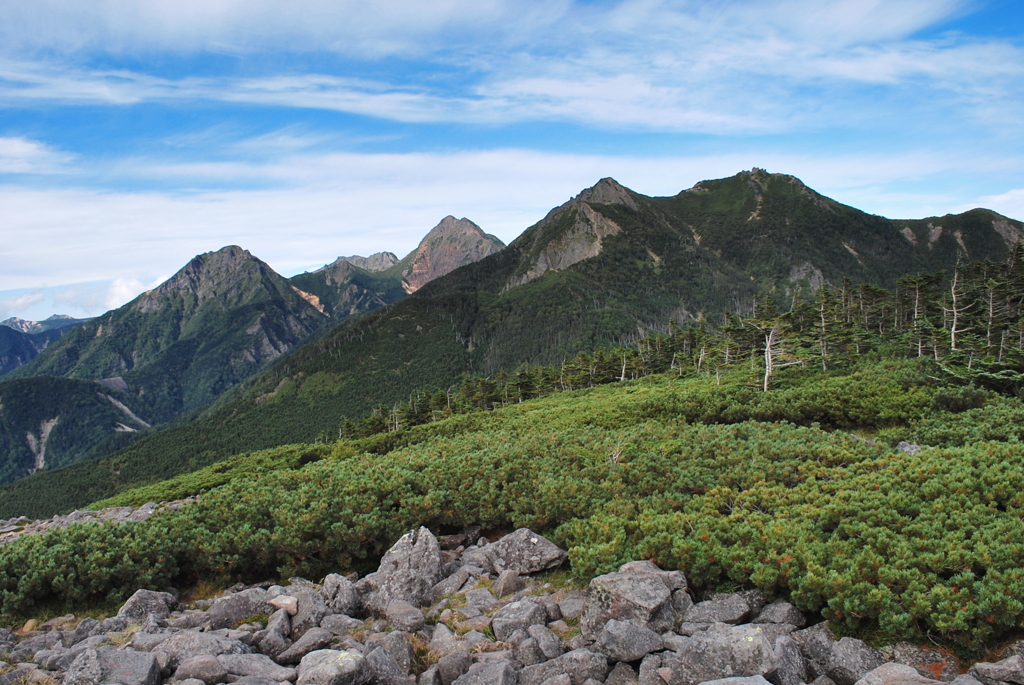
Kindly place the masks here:
POLYGON ((655 633, 671 630, 675 619, 672 593, 651 573, 607 573, 590 582, 580 627, 587 640, 600 637, 611 618, 646 626, 655 633))

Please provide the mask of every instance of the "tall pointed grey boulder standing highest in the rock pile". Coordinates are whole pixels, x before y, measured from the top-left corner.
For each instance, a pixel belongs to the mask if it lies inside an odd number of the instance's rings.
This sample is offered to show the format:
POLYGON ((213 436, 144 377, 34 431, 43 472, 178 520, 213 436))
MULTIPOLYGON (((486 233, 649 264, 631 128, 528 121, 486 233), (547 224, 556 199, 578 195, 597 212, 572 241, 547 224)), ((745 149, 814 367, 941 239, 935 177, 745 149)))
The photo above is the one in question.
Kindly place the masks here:
POLYGON ((420 527, 402 536, 381 559, 377 571, 356 583, 355 589, 364 607, 383 615, 395 599, 414 606, 433 602, 433 587, 440 582, 443 570, 437 539, 420 527))

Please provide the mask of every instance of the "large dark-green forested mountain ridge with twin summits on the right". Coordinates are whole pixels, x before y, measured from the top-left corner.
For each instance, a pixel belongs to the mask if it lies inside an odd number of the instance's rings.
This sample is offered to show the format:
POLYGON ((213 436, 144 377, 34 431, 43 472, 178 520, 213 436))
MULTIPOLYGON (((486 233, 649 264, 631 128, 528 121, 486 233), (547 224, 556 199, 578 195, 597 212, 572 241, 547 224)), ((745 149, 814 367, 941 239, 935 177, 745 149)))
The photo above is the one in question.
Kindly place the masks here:
MULTIPOLYGON (((54 483, 52 491, 70 498, 61 501, 84 504, 232 454, 337 436, 348 419, 417 391, 445 390, 466 374, 557 366, 666 332, 670 320, 720 327, 727 312, 755 313, 759 296, 782 311, 804 302, 799 326, 811 335, 809 308, 823 284, 834 286, 829 297, 859 303, 856 318, 844 323, 863 319, 863 338, 867 318, 886 320, 881 312, 893 306, 886 297, 899 301, 903 326, 907 289, 934 299, 942 279, 904 284, 895 295, 879 287, 924 270, 948 274, 969 257, 1004 260, 1018 234, 1019 222, 985 210, 920 221, 872 216, 760 170, 672 198, 645 198, 606 179, 505 250, 296 349, 198 420, 4 494, 38 503, 28 494, 54 483)), ((940 305, 929 306, 929 317, 913 322, 919 343, 944 326, 940 305)))

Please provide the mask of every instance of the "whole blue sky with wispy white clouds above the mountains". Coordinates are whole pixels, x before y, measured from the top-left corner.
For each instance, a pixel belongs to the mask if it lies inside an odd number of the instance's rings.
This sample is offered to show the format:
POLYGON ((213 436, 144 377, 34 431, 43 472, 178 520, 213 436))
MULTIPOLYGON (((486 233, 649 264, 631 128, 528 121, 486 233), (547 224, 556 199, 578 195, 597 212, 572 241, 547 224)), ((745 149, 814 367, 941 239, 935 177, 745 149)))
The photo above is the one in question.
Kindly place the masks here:
POLYGON ((0 318, 291 275, 612 176, 1024 219, 1020 0, 0 0, 0 318))

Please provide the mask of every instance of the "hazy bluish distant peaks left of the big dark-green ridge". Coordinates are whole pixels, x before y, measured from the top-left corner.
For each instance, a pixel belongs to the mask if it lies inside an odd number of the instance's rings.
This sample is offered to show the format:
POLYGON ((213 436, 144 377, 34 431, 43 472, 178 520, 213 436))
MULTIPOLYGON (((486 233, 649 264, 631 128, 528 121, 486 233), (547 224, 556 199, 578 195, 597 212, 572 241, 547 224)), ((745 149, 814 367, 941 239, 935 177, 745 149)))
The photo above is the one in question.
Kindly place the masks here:
POLYGON ((18 405, 0 422, 0 483, 124 446, 150 424, 209 404, 323 328, 406 297, 403 269, 423 282, 489 254, 490 246, 472 222, 445 219, 406 260, 390 253, 346 257, 291 280, 227 247, 196 257, 160 287, 94 319, 11 319, 42 332, 0 327, 0 374, 16 371, 10 377, 19 379, 0 383, 0 396, 6 392, 18 405), (99 381, 105 399, 95 401, 99 391, 91 385, 61 384, 53 376, 99 381), (50 392, 67 401, 57 406, 50 392), (110 400, 115 395, 120 404, 110 400), (142 425, 125 423, 112 406, 131 406, 142 425), (50 441, 47 431, 55 431, 50 441), (33 444, 49 444, 49 457, 33 444))

